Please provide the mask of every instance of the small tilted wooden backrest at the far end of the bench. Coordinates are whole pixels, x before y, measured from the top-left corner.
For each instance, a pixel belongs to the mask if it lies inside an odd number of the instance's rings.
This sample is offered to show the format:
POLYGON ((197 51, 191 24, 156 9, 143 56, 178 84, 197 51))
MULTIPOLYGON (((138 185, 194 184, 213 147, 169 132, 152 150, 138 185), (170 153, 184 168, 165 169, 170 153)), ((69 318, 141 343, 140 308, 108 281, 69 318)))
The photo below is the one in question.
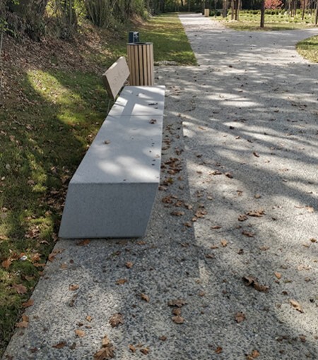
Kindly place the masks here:
POLYGON ((129 68, 126 59, 124 56, 120 56, 119 59, 102 74, 102 80, 105 83, 108 96, 114 100, 124 86, 124 83, 126 83, 128 77, 129 68))

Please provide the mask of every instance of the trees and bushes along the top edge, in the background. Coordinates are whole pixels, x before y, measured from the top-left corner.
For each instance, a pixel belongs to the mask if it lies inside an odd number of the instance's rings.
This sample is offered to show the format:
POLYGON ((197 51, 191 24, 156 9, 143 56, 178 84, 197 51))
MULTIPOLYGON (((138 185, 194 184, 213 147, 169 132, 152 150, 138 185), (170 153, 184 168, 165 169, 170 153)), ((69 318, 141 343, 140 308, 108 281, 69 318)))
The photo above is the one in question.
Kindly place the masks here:
POLYGON ((229 8, 238 20, 240 9, 285 8, 291 15, 297 8, 317 8, 318 0, 1 0, 0 30, 12 35, 28 34, 34 40, 54 27, 57 37, 69 38, 86 18, 101 28, 116 28, 136 16, 166 11, 203 11, 229 8))

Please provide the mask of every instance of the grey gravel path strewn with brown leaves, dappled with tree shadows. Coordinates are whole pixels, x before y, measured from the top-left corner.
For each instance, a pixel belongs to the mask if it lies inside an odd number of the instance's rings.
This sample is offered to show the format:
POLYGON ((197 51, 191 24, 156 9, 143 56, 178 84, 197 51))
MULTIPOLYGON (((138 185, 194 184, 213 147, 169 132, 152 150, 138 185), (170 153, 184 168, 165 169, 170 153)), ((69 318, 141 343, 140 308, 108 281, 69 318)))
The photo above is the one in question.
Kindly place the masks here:
POLYGON ((318 66, 295 52, 317 30, 180 18, 200 66, 156 70, 145 238, 59 241, 4 359, 93 359, 105 335, 122 360, 318 359, 318 66))

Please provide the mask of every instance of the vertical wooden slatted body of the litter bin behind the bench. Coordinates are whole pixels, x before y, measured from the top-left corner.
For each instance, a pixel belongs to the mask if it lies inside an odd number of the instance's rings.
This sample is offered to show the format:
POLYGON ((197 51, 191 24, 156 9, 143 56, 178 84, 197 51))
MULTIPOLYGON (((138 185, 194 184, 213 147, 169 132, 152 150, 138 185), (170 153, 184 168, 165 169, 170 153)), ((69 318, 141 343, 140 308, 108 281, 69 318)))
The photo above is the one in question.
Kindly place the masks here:
POLYGON ((129 85, 154 85, 153 43, 129 43, 127 44, 127 55, 130 71, 129 85))

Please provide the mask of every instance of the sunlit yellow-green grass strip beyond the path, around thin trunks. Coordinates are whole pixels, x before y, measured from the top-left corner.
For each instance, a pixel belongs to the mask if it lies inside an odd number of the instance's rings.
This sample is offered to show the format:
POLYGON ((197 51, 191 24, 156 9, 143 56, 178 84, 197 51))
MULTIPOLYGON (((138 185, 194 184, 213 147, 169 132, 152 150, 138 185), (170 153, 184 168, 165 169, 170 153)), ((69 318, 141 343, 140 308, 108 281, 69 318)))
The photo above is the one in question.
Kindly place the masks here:
MULTIPOLYGON (((294 30, 294 29, 304 29, 313 26, 314 17, 310 14, 305 14, 304 20, 302 16, 298 13, 294 17, 288 16, 285 13, 269 14, 265 13, 265 25, 264 28, 260 28, 261 13, 258 11, 240 11, 240 20, 235 21, 231 20, 229 15, 224 23, 228 28, 233 30, 244 30, 244 31, 273 31, 273 30, 294 30)), ((218 18, 222 20, 222 18, 218 18)))

